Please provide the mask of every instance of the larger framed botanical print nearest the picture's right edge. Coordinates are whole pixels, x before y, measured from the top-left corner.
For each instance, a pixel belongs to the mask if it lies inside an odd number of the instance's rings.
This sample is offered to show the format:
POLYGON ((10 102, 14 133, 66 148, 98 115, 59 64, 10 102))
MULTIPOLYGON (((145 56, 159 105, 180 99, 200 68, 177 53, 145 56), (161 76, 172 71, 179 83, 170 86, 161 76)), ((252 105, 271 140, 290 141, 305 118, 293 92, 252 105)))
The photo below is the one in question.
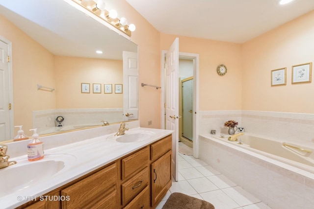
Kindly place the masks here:
POLYGON ((312 81, 312 63, 292 66, 292 84, 311 83, 312 81))

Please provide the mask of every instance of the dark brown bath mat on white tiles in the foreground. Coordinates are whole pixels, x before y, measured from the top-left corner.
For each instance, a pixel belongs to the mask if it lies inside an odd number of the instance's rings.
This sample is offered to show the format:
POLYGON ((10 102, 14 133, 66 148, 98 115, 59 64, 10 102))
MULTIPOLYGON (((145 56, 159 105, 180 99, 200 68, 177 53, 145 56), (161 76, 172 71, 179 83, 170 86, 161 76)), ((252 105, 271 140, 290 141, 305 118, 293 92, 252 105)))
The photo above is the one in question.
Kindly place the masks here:
POLYGON ((205 200, 175 192, 170 195, 162 209, 215 209, 215 207, 205 200))

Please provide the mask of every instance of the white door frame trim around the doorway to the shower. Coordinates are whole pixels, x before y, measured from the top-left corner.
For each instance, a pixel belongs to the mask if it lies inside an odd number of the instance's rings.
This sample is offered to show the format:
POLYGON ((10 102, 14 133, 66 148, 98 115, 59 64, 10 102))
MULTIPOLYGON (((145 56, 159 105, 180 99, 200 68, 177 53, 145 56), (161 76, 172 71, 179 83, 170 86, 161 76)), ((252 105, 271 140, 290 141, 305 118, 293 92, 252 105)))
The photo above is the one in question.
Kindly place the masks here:
MULTIPOLYGON (((161 51, 161 127, 165 127, 165 54, 167 50, 161 51)), ((179 51, 179 58, 193 59, 193 157, 199 158, 199 62, 200 56, 195 53, 179 51), (195 105, 194 105, 195 104, 195 105)), ((179 86, 178 86, 179 88, 179 86)), ((179 90, 178 90, 179 91, 179 90)), ((179 99, 179 98, 178 98, 179 99)), ((178 142, 179 143, 179 142, 178 142)))

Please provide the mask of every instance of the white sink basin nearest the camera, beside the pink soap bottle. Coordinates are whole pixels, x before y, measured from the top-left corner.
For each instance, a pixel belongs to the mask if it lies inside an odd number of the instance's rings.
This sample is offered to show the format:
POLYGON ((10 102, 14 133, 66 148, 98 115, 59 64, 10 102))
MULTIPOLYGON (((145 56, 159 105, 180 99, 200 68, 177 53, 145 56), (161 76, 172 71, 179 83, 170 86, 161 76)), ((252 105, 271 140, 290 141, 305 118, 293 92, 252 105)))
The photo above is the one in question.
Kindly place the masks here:
POLYGON ((28 162, 27 159, 17 164, 0 169, 0 197, 22 190, 43 180, 49 180, 68 163, 75 161, 72 155, 45 155, 43 160, 28 162))

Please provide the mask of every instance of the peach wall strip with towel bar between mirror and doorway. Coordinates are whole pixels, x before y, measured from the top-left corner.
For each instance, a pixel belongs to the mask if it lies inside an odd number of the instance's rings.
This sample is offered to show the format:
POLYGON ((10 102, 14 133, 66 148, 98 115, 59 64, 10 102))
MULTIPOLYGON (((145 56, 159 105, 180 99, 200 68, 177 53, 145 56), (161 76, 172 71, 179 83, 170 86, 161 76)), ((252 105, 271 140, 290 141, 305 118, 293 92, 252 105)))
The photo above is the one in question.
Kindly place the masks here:
MULTIPOLYGON (((148 23, 126 0, 109 0, 106 2, 123 14, 128 23, 134 23, 136 30, 131 40, 138 45, 139 60, 139 118, 141 127, 160 128, 161 91, 154 88, 141 87, 141 83, 160 85, 160 33, 148 23), (148 121, 152 120, 152 125, 148 121)), ((121 17, 121 16, 119 16, 121 17)))

